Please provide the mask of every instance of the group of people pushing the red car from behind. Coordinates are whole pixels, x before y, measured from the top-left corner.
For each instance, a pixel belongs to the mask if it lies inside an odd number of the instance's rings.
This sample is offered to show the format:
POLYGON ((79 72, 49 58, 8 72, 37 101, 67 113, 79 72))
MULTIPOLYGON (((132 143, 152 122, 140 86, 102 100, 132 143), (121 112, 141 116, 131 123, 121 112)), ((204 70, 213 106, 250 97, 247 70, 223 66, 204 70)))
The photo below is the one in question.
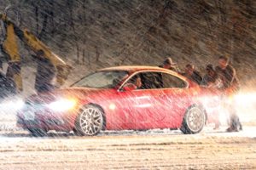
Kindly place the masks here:
POLYGON ((171 58, 166 58, 160 67, 176 71, 201 86, 220 89, 224 94, 223 102, 225 103, 225 107, 230 112, 230 127, 227 129, 227 132, 238 132, 242 130, 241 122, 234 108, 234 101, 230 101, 230 103, 225 101, 230 94, 236 93, 240 88, 236 77, 236 70, 230 65, 230 59, 228 57, 220 56, 218 58, 218 66, 215 69, 213 65, 207 65, 207 73, 204 77, 201 77, 200 72, 195 70, 195 66, 190 64, 185 66, 184 72, 178 71, 176 63, 173 63, 171 58))

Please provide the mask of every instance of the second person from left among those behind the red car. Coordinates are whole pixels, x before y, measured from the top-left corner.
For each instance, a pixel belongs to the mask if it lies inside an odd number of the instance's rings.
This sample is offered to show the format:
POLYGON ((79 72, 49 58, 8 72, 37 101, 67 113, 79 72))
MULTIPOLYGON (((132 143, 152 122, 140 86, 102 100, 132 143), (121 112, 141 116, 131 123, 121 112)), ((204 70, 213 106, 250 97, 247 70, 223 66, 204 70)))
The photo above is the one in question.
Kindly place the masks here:
POLYGON ((189 80, 196 82, 197 84, 201 84, 202 77, 199 71, 195 70, 194 65, 186 65, 185 73, 183 74, 184 77, 189 78, 189 80))

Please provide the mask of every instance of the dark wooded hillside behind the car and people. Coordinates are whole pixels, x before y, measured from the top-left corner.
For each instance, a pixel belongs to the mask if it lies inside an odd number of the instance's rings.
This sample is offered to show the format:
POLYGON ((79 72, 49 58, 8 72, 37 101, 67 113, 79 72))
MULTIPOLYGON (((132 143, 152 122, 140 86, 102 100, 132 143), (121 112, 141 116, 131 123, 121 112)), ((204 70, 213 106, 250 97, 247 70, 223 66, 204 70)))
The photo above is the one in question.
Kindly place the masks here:
MULTIPOLYGON (((229 56, 242 82, 256 73, 256 1, 253 0, 0 0, 19 8, 28 28, 73 65, 73 75, 113 65, 179 68, 217 65, 229 56)), ((23 65, 32 62, 20 48, 23 65)), ((203 72, 202 72, 203 74, 203 72)), ((72 81, 75 78, 71 78, 72 81)))

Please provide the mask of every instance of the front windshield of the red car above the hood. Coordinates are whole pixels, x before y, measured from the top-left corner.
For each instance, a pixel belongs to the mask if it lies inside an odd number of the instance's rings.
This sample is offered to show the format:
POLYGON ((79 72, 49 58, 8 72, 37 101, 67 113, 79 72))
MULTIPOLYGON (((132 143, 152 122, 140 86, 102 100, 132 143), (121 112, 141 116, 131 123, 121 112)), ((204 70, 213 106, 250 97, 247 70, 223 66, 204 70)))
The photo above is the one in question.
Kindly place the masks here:
POLYGON ((96 71, 75 82, 72 87, 116 88, 125 77, 128 77, 127 71, 96 71))

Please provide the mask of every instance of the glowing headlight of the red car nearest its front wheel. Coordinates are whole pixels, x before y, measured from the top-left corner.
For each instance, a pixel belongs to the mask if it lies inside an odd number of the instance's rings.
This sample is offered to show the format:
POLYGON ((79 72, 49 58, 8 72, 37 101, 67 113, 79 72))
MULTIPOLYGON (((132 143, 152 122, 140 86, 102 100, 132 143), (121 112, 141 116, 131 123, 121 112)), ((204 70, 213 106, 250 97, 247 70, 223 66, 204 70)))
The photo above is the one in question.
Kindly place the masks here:
POLYGON ((77 104, 75 99, 59 99, 48 105, 52 111, 69 111, 72 110, 77 104))

